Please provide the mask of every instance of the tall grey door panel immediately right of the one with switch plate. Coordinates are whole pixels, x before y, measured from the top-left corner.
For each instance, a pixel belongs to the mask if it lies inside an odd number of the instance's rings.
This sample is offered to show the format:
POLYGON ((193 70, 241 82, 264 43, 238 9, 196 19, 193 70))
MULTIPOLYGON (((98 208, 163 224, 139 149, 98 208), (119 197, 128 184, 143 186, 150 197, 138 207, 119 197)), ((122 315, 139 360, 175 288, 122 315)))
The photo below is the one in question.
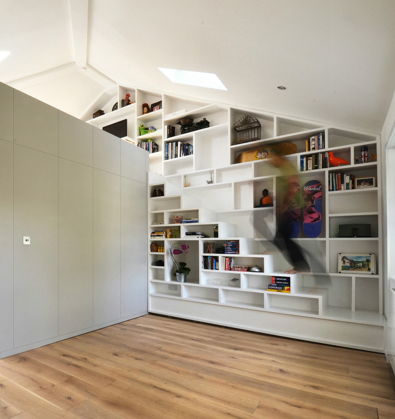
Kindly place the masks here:
POLYGON ((93 169, 59 160, 59 332, 93 326, 93 169))

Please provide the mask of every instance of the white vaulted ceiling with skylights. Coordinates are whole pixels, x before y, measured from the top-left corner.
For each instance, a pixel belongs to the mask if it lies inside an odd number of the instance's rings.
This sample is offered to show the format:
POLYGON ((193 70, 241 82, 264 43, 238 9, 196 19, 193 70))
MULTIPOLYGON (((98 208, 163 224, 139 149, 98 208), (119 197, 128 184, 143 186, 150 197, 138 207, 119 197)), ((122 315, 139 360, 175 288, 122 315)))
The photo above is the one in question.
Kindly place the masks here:
POLYGON ((0 50, 0 81, 77 117, 119 83, 380 133, 395 0, 0 0, 0 50))

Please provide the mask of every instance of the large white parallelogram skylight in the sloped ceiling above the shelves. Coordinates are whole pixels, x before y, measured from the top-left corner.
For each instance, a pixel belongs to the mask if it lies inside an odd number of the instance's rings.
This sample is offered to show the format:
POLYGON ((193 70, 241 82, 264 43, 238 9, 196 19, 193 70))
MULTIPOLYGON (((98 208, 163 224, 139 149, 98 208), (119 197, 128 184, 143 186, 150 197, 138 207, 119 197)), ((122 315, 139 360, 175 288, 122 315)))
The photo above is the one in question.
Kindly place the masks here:
POLYGON ((211 89, 228 90, 214 73, 198 71, 174 70, 158 67, 173 83, 189 84, 190 86, 209 87, 211 89))

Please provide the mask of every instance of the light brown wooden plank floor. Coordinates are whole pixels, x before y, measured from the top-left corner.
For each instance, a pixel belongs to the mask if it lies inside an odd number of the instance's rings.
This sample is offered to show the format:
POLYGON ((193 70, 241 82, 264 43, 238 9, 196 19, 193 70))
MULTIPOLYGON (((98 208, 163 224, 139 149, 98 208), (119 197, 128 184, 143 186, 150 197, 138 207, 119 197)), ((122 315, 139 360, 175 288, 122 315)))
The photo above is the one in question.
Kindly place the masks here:
POLYGON ((383 354, 147 315, 0 360, 0 419, 394 419, 383 354))

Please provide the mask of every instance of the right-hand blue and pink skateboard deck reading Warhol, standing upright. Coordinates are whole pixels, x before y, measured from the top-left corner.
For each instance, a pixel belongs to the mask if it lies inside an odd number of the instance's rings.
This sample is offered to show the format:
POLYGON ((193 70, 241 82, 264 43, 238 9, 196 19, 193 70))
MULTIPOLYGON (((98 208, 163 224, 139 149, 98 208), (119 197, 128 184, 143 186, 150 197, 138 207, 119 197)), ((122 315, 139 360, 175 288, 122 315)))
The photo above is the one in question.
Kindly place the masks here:
POLYGON ((322 185, 313 180, 303 188, 303 232, 306 237, 318 237, 322 227, 322 185))

